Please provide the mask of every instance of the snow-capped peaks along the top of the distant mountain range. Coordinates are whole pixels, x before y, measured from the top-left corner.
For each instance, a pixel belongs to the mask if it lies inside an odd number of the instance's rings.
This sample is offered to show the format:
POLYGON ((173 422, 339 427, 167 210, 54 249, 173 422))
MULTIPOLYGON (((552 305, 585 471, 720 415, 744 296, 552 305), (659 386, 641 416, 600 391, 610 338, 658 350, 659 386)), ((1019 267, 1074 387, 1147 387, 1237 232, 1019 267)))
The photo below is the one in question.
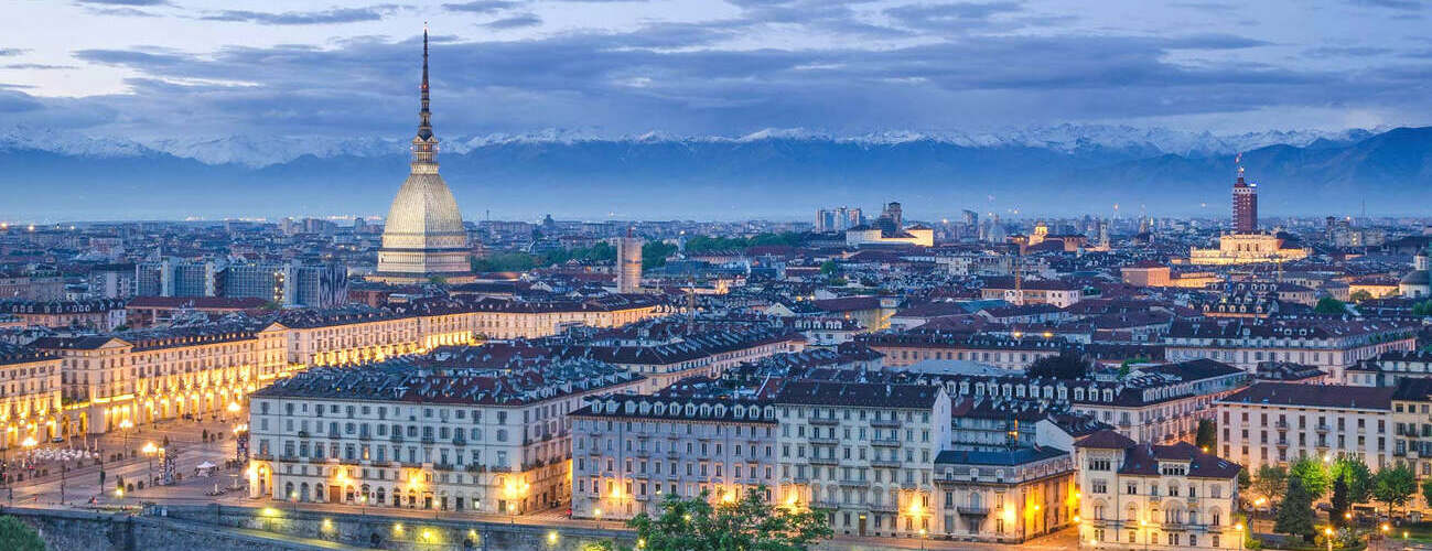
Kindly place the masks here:
MULTIPOLYGON (((1307 147, 1316 143, 1350 143, 1386 129, 1349 130, 1266 130, 1239 135, 1211 132, 1181 132, 1163 127, 1133 127, 1107 125, 1057 125, 1007 132, 968 133, 957 130, 916 132, 888 130, 878 133, 838 136, 809 129, 763 129, 743 136, 677 136, 649 132, 626 136, 601 136, 580 129, 548 129, 533 133, 493 133, 485 136, 453 136, 444 139, 442 150, 465 155, 477 149, 503 145, 576 145, 576 143, 752 143, 762 140, 829 142, 842 145, 889 146, 911 142, 932 142, 972 149, 1032 147, 1060 153, 1118 150, 1133 155, 1179 155, 1206 157, 1232 155, 1252 149, 1287 145, 1307 147)), ((407 139, 398 137, 325 137, 325 136, 200 136, 127 139, 89 136, 76 132, 10 127, 0 130, 0 150, 39 150, 83 157, 133 157, 168 153, 193 159, 205 165, 238 165, 265 167, 292 162, 302 156, 329 159, 337 156, 379 157, 405 155, 407 139)))

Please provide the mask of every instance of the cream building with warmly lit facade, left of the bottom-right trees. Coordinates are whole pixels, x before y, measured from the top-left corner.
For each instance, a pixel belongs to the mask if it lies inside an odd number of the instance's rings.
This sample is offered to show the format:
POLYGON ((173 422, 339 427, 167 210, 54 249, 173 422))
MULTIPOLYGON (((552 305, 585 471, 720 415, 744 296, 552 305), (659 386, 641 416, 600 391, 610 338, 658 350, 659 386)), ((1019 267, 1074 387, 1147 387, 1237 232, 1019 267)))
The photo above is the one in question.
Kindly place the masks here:
POLYGON ((1081 548, 1233 550, 1239 464, 1189 442, 1137 444, 1114 431, 1074 444, 1081 548))

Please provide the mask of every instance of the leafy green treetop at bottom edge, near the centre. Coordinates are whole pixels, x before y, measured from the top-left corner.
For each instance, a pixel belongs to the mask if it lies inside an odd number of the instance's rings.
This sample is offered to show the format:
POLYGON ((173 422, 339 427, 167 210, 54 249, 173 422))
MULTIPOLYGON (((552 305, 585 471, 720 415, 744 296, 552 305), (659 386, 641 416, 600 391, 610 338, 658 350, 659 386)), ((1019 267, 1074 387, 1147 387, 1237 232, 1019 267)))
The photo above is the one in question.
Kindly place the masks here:
MULTIPOLYGON (((627 521, 639 541, 652 551, 686 550, 770 550, 799 551, 815 547, 835 532, 819 509, 773 507, 766 488, 749 488, 735 501, 712 504, 707 492, 683 499, 666 494, 657 515, 642 512, 627 521)), ((601 548, 614 548, 604 544, 601 548)))

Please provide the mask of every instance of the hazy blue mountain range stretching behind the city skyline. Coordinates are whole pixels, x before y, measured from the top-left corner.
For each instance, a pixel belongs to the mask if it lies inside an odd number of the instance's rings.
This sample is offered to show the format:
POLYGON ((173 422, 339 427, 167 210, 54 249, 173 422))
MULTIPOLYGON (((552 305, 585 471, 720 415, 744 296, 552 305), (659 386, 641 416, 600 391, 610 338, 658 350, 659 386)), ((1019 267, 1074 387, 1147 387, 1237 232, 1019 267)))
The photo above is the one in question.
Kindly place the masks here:
MULTIPOLYGON (((440 136, 441 139, 442 136, 440 136)), ((1270 215, 1425 213, 1432 127, 1234 136, 1121 126, 1007 133, 740 137, 581 132, 447 137, 438 156, 468 220, 800 219, 818 206, 911 218, 961 209, 1226 216, 1244 152, 1270 215)), ((405 139, 123 140, 0 132, 0 220, 385 215, 405 139), (59 199, 57 199, 59 198, 59 199)))

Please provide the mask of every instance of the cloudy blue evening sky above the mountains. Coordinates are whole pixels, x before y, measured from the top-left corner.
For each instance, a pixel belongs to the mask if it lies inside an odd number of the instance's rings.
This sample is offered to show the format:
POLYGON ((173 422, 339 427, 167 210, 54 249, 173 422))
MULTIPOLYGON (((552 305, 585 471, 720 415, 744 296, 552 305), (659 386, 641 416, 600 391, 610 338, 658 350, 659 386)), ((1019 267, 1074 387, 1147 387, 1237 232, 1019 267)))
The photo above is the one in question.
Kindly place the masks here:
POLYGON ((0 129, 405 136, 1432 123, 1432 7, 1339 1, 0 0, 0 129))

